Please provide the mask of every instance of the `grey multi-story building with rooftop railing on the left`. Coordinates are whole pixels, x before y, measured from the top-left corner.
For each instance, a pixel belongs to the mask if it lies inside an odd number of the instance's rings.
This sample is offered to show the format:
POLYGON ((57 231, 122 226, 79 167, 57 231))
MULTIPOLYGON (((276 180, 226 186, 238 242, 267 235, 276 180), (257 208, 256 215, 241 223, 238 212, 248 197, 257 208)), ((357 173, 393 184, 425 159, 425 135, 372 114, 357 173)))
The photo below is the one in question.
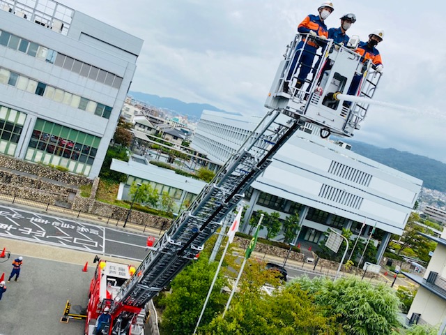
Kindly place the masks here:
POLYGON ((56 1, 0 1, 0 153, 97 176, 142 43, 56 1))

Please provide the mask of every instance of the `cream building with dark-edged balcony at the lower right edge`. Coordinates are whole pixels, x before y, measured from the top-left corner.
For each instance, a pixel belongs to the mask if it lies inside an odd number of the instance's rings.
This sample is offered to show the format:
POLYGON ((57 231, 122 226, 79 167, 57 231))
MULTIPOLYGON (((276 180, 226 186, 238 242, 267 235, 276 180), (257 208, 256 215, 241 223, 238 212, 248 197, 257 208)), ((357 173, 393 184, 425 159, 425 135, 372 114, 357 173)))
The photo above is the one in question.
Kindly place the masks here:
POLYGON ((422 235, 437 242, 437 247, 424 276, 403 272, 420 285, 407 318, 409 324, 436 326, 446 319, 446 228, 440 237, 422 235))

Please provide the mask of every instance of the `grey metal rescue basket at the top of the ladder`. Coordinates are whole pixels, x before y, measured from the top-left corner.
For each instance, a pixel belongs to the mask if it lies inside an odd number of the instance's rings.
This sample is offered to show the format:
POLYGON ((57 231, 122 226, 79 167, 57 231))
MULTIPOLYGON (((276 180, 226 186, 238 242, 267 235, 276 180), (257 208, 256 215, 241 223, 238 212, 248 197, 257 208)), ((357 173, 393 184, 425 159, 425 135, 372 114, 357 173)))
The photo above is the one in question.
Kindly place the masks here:
POLYGON ((331 39, 297 34, 286 47, 284 60, 279 64, 265 106, 301 114, 302 118, 321 128, 322 137, 328 137, 330 133, 352 137, 353 131, 360 128, 360 122, 366 117, 369 107, 367 100, 374 96, 381 75, 373 69, 370 61, 363 63, 360 54, 355 52, 359 42, 357 36, 352 36, 348 45, 344 46, 331 39), (314 62, 310 64, 305 82, 297 84, 302 65, 308 66, 301 61, 302 55, 309 52, 305 50, 307 43, 320 47, 314 54, 314 62), (295 58, 297 65, 290 76, 295 58), (358 103, 345 97, 355 76, 360 80, 360 85, 351 95, 365 98, 358 103), (291 79, 287 80, 287 77, 291 79), (339 96, 344 97, 345 102, 339 101, 339 96))

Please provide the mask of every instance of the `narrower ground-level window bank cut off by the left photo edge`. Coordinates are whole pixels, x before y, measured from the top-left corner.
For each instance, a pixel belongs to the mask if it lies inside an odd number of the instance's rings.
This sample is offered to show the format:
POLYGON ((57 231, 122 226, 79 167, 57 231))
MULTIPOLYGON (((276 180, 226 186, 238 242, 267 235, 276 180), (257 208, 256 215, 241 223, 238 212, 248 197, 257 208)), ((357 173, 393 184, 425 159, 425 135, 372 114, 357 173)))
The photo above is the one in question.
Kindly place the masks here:
POLYGON ((15 155, 17 143, 22 134, 26 114, 11 108, 0 106, 0 153, 15 155))

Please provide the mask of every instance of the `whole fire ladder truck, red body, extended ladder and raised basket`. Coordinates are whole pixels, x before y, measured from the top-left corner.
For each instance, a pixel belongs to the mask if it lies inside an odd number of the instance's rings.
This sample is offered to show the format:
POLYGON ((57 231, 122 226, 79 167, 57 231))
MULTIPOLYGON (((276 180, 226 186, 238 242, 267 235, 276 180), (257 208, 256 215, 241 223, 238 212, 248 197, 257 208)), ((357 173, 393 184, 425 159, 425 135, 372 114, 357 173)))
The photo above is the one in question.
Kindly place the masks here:
MULTIPOLYGON (((352 45, 344 47, 335 45, 332 40, 295 36, 286 48, 266 99, 266 116, 190 207, 160 237, 134 274, 124 265, 99 262, 91 281, 85 334, 93 334, 95 321, 106 306, 111 321, 100 334, 144 334, 141 311, 148 301, 169 285, 190 261, 197 259, 203 244, 221 227, 224 217, 236 207, 247 188, 296 131, 313 124, 321 137, 331 133, 353 136, 367 114, 380 79, 380 73, 374 71, 371 64, 363 64, 360 55, 354 52, 358 41, 353 38, 349 43, 352 45), (315 54, 316 65, 312 66, 311 78, 302 87, 295 88, 297 75, 293 74, 288 82, 286 76, 293 57, 300 59, 302 52, 306 52, 296 50, 301 40, 303 47, 308 41, 322 46, 315 54), (350 104, 338 101, 337 94, 346 94, 355 75, 362 77, 357 96, 364 101, 350 104), (284 90, 285 82, 289 91, 284 90), (106 285, 114 289, 108 290, 106 285)), ((297 71, 300 66, 298 60, 297 71)))

